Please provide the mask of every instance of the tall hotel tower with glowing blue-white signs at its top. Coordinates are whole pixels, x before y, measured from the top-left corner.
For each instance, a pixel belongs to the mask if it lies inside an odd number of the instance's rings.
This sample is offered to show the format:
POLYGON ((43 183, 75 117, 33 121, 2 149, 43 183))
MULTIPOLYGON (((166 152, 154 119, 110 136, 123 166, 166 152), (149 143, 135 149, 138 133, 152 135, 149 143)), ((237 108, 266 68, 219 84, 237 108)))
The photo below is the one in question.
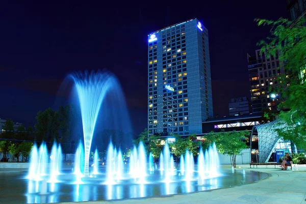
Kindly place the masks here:
POLYGON ((202 133, 213 116, 207 29, 195 18, 148 35, 148 131, 202 133))

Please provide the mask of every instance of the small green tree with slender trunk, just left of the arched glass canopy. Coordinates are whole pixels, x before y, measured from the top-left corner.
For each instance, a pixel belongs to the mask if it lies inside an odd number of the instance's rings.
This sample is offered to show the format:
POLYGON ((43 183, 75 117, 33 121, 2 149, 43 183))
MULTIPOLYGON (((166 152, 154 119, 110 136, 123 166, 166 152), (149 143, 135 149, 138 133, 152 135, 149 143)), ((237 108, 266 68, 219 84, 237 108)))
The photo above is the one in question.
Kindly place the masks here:
POLYGON ((219 153, 223 155, 229 155, 232 166, 236 167, 236 156, 241 154, 241 151, 247 148, 245 141, 247 140, 250 132, 245 131, 232 131, 232 132, 218 132, 214 135, 210 135, 209 140, 216 143, 216 147, 219 153))

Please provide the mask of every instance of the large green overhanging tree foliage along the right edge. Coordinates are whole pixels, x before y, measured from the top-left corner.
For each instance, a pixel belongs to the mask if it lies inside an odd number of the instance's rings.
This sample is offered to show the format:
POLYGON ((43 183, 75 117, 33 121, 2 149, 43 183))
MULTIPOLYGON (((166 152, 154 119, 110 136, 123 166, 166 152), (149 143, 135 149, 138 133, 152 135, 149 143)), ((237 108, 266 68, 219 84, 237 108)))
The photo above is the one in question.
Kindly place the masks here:
POLYGON ((298 147, 306 145, 306 27, 304 20, 294 26, 291 21, 280 18, 277 21, 256 19, 258 25, 271 26, 270 36, 258 45, 266 57, 279 53, 279 61, 284 63, 285 75, 279 75, 277 93, 282 94, 283 102, 279 105, 280 125, 278 135, 296 143, 298 147), (289 111, 288 111, 289 109, 289 111))

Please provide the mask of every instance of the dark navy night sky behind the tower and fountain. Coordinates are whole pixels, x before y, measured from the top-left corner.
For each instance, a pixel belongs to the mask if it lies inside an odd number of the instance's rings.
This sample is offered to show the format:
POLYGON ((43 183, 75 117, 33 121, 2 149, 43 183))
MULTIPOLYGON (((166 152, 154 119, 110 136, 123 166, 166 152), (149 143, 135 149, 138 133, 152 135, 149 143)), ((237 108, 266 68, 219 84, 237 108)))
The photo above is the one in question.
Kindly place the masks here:
POLYGON ((67 74, 106 68, 121 82, 136 134, 147 126, 147 34, 193 17, 208 28, 214 115, 226 115, 231 98, 249 97, 247 53, 268 35, 253 19, 288 17, 285 0, 29 2, 0 3, 0 118, 33 126, 67 74))

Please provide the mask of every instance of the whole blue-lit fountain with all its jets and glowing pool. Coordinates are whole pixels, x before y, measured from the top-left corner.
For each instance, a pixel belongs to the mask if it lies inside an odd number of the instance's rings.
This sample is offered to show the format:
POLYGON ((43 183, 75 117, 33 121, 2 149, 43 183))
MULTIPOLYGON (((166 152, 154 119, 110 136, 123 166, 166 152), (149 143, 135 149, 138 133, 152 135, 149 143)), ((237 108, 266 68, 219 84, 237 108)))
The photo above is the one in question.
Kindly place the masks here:
MULTIPOLYGON (((199 150, 195 157, 186 150, 179 162, 174 162, 168 144, 165 143, 158 162, 154 163, 152 154, 146 154, 142 142, 131 150, 129 159, 123 160, 122 143, 108 144, 105 161, 100 161, 98 151, 94 149, 90 160, 92 139, 99 114, 106 114, 109 107, 101 108, 106 100, 108 104, 121 100, 117 113, 126 115, 125 101, 115 76, 107 72, 75 73, 73 79, 82 117, 84 140, 75 150, 74 160, 67 166, 63 162, 61 145, 54 143, 48 150, 45 143, 35 144, 31 153, 31 164, 27 175, 17 180, 24 194, 18 202, 68 202, 88 200, 110 200, 146 196, 162 196, 177 193, 189 193, 220 187, 234 186, 261 179, 254 172, 222 170, 215 144, 205 150, 199 150), (116 96, 108 97, 113 89, 116 96), (113 100, 113 101, 112 101, 113 100), (105 112, 104 112, 105 111, 105 112)), ((114 113, 114 111, 113 111, 114 113)), ((110 115, 106 115, 107 118, 110 115)), ((119 117, 118 120, 124 117, 119 117)), ((120 121, 116 121, 119 123, 120 121)), ((126 138, 125 138, 126 139, 126 138)), ((123 136, 122 139, 124 140, 123 136)), ((105 158, 103 158, 105 159, 105 158)), ((10 178, 18 175, 8 174, 5 179, 7 188, 16 184, 10 178)))

